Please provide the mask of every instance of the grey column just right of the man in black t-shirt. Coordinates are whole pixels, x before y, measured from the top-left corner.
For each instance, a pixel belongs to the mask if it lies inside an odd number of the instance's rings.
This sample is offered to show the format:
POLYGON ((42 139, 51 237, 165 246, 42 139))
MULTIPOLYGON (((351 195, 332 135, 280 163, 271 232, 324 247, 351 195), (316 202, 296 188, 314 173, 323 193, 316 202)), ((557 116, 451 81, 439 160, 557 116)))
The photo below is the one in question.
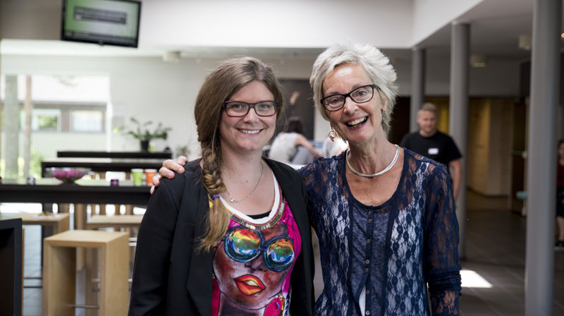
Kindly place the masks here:
POLYGON ((456 200, 460 243, 458 255, 465 257, 466 175, 468 154, 468 68, 470 56, 470 25, 453 23, 450 35, 450 104, 448 110, 449 134, 462 153, 462 176, 456 200))

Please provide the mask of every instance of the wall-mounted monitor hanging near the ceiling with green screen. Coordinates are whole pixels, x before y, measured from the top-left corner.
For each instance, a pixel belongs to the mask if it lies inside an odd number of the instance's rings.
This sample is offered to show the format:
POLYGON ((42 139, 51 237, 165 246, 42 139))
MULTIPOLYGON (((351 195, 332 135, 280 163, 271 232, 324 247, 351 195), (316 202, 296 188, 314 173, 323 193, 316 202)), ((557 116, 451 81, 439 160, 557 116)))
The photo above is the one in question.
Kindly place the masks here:
POLYGON ((64 41, 137 47, 141 2, 63 0, 64 41))

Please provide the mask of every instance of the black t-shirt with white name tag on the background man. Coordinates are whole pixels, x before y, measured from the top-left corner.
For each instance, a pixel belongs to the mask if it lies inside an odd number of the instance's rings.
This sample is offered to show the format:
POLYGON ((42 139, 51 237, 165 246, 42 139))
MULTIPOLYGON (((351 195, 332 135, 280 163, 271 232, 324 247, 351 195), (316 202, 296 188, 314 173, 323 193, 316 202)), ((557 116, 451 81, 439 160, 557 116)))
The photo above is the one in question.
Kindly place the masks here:
POLYGON ((423 137, 419 132, 409 133, 403 137, 400 146, 446 166, 449 162, 462 157, 453 138, 439 130, 431 137, 423 137))

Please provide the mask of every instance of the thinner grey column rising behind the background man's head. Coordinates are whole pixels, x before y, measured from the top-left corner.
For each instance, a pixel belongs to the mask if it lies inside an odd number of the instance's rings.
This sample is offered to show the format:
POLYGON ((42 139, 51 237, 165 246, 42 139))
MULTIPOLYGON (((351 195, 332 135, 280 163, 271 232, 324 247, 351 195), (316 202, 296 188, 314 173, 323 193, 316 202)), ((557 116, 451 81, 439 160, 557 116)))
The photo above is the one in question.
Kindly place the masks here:
POLYGON ((425 50, 415 47, 411 50, 411 104, 410 132, 417 132, 415 119, 417 111, 425 100, 425 50))

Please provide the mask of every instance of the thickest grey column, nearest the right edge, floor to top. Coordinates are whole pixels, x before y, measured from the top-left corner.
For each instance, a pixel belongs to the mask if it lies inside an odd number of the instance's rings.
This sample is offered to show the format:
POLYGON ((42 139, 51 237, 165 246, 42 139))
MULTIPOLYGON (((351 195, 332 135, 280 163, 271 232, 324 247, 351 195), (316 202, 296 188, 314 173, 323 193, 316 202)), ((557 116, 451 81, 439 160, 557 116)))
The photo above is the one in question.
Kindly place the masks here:
POLYGON ((527 140, 525 315, 553 315, 556 107, 562 0, 535 0, 527 140))

